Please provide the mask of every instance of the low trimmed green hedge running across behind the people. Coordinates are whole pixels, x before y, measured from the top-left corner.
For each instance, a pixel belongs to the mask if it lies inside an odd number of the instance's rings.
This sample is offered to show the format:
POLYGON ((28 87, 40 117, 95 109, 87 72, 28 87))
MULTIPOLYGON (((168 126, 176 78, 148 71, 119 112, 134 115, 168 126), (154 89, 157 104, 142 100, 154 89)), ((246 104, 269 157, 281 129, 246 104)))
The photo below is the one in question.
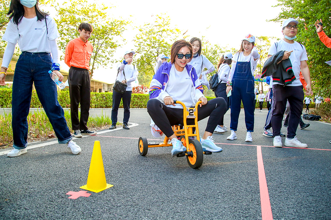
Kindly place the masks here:
MULTIPOLYGON (((0 89, 0 108, 12 107, 12 89, 2 88, 0 89)), ((215 97, 207 97, 208 101, 215 97)), ((63 108, 70 108, 70 96, 69 91, 58 91, 58 100, 63 108)), ((148 94, 132 94, 130 108, 146 108, 147 101, 149 100, 148 94)), ((112 92, 91 92, 91 108, 112 108, 113 105, 113 93, 112 92)), ((310 108, 315 108, 315 103, 310 103, 310 108)), ((30 108, 42 108, 35 90, 32 90, 32 98, 30 108)), ((122 101, 119 108, 123 108, 122 101)), ((241 103, 243 108, 243 103, 241 103)), ((259 109, 259 102, 256 102, 256 109, 259 109)), ((267 103, 263 102, 263 108, 267 108, 267 103)), ((306 105, 304 105, 306 108, 306 105)))

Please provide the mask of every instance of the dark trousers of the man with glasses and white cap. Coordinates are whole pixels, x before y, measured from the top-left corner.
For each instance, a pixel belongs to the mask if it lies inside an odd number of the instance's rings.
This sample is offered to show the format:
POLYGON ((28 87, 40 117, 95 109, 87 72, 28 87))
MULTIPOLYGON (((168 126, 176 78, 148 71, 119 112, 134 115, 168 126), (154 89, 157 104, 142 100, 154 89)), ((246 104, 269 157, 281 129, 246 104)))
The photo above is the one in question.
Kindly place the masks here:
POLYGON ((286 102, 288 100, 290 103, 291 114, 289 116, 287 137, 294 138, 296 136, 302 114, 304 101, 303 86, 283 86, 276 84, 273 85, 273 96, 275 98, 275 105, 271 119, 273 136, 280 135, 283 115, 286 108, 286 102))

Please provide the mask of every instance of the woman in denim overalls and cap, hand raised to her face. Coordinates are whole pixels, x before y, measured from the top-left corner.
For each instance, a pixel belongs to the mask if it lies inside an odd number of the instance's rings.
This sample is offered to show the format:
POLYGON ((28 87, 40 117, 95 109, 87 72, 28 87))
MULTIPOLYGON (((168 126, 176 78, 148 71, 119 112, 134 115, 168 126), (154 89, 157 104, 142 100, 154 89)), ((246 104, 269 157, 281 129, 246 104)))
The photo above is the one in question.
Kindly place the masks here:
POLYGON ((231 135, 228 140, 237 139, 236 131, 238 127, 241 102, 245 111, 245 124, 247 129, 245 141, 252 142, 252 132, 254 131, 254 77, 253 73, 257 66, 260 55, 254 47, 255 37, 248 34, 241 42, 239 51, 232 58, 232 68, 227 82, 226 93, 232 90, 230 97, 231 108, 231 135))

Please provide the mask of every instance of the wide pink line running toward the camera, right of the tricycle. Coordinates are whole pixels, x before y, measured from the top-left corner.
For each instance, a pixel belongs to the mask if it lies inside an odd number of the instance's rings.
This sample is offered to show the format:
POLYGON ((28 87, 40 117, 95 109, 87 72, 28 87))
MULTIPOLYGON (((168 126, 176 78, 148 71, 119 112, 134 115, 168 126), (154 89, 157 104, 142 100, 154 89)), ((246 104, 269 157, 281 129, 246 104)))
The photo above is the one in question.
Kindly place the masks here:
POLYGON ((272 220, 273 219, 272 211, 271 211, 267 181, 265 179, 261 146, 257 146, 257 155, 258 155, 258 171, 259 171, 262 220, 272 220))

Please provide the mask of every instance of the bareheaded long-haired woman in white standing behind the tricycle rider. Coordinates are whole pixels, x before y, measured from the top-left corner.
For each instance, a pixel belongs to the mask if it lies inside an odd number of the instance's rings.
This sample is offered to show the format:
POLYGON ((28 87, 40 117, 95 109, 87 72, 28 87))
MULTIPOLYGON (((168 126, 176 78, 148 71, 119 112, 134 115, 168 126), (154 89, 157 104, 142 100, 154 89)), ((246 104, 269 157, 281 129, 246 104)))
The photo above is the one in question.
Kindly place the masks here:
POLYGON ((192 65, 195 68, 195 71, 200 79, 200 83, 202 85, 206 85, 208 89, 209 88, 209 82, 207 80, 207 74, 213 72, 215 70, 215 67, 213 64, 205 57, 204 55, 201 54, 202 50, 202 44, 201 40, 198 37, 193 37, 190 40, 190 43, 193 48, 193 58, 189 62, 190 65, 192 65), (206 71, 205 68, 207 69, 206 71))

